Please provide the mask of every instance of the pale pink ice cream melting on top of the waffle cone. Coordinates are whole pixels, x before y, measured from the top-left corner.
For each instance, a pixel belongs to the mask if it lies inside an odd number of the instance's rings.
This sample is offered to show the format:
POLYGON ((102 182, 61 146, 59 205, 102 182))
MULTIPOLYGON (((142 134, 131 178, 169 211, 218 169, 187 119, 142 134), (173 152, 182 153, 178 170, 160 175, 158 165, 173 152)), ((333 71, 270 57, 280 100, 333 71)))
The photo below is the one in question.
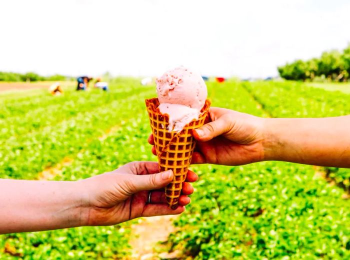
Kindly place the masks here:
POLYGON ((166 71, 156 79, 159 110, 169 115, 169 131, 180 131, 198 119, 207 90, 202 77, 183 66, 166 71))

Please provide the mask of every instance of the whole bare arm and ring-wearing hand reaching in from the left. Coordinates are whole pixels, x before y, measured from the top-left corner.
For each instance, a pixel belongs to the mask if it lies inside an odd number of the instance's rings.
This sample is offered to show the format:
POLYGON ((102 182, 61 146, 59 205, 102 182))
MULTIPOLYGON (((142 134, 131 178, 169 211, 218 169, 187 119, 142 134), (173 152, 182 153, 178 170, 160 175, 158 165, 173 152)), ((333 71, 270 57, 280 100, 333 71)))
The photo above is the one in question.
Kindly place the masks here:
POLYGON ((79 181, 0 179, 0 234, 83 225, 114 225, 139 216, 179 214, 193 192, 188 170, 179 206, 168 207, 164 190, 173 178, 156 162, 140 161, 79 181), (148 202, 148 190, 151 191, 148 202))

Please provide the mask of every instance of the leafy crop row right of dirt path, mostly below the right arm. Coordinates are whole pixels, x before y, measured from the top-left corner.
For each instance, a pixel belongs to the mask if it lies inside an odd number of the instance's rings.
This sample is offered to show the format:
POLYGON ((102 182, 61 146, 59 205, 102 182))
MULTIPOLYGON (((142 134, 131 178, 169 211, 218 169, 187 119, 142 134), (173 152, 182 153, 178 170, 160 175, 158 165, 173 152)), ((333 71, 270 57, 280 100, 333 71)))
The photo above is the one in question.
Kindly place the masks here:
MULTIPOLYGON (((239 84, 212 87, 215 93, 232 90, 236 98, 246 96, 239 84)), ((227 98, 215 94, 213 100, 259 115, 252 97, 244 103, 227 98)), ((340 189, 314 179, 311 166, 261 162, 193 169, 200 179, 192 203, 176 221, 179 230, 169 237, 171 249, 198 259, 350 257, 348 203, 340 189)))

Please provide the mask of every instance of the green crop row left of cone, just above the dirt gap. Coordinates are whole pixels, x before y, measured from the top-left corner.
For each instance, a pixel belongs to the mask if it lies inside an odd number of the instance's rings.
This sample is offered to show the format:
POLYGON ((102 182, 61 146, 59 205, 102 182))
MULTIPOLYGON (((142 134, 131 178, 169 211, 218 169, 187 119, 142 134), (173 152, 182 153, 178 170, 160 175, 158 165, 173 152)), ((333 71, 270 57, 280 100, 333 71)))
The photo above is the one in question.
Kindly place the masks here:
POLYGON ((149 93, 147 89, 123 92, 119 98, 93 111, 82 111, 58 124, 7 139, 0 147, 2 177, 33 178, 44 167, 75 154, 86 146, 88 140, 130 118, 133 103, 149 93))

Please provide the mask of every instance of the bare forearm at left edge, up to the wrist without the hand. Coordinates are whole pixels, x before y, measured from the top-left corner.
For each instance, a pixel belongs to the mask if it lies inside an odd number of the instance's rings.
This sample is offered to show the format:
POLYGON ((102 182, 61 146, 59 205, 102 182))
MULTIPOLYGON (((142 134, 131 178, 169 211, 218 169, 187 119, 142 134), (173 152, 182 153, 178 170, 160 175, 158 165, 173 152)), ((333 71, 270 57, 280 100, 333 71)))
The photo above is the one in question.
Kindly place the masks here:
POLYGON ((81 225, 79 186, 75 181, 0 179, 0 234, 81 225))

